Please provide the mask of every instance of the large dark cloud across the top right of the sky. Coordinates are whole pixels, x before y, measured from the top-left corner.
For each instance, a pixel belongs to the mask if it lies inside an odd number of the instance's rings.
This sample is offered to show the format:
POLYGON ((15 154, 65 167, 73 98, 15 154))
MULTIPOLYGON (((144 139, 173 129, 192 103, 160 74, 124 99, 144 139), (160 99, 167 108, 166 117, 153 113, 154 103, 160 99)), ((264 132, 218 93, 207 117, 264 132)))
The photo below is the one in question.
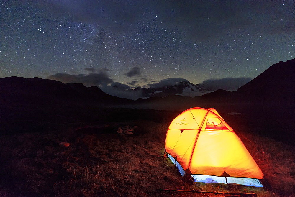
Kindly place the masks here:
POLYGON ((158 4, 156 10, 162 24, 182 29, 198 40, 237 31, 272 34, 274 30, 294 29, 289 25, 295 21, 294 1, 205 0, 160 1, 158 4))

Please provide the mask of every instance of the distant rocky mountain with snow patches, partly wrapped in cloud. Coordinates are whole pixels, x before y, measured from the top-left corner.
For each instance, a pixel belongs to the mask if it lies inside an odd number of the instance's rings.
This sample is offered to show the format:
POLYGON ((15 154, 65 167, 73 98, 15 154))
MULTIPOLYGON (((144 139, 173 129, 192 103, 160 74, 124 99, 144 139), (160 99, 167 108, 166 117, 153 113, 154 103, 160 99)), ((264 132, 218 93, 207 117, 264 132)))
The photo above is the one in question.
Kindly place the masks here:
POLYGON ((181 96, 201 96, 212 91, 208 91, 201 84, 193 84, 189 81, 179 82, 175 85, 164 86, 160 88, 135 88, 129 91, 142 91, 143 97, 165 97, 168 95, 181 95, 181 96))

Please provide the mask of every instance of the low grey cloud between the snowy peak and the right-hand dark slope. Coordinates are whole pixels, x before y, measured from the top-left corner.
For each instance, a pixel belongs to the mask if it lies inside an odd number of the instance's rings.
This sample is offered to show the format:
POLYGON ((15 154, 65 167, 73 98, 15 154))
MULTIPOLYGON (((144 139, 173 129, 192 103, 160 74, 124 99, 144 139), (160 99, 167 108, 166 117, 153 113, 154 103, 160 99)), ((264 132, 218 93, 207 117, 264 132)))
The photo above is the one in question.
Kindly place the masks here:
POLYGON ((236 91, 239 87, 251 81, 250 77, 239 78, 222 78, 222 79, 206 79, 201 84, 209 91, 223 89, 227 91, 236 91))

